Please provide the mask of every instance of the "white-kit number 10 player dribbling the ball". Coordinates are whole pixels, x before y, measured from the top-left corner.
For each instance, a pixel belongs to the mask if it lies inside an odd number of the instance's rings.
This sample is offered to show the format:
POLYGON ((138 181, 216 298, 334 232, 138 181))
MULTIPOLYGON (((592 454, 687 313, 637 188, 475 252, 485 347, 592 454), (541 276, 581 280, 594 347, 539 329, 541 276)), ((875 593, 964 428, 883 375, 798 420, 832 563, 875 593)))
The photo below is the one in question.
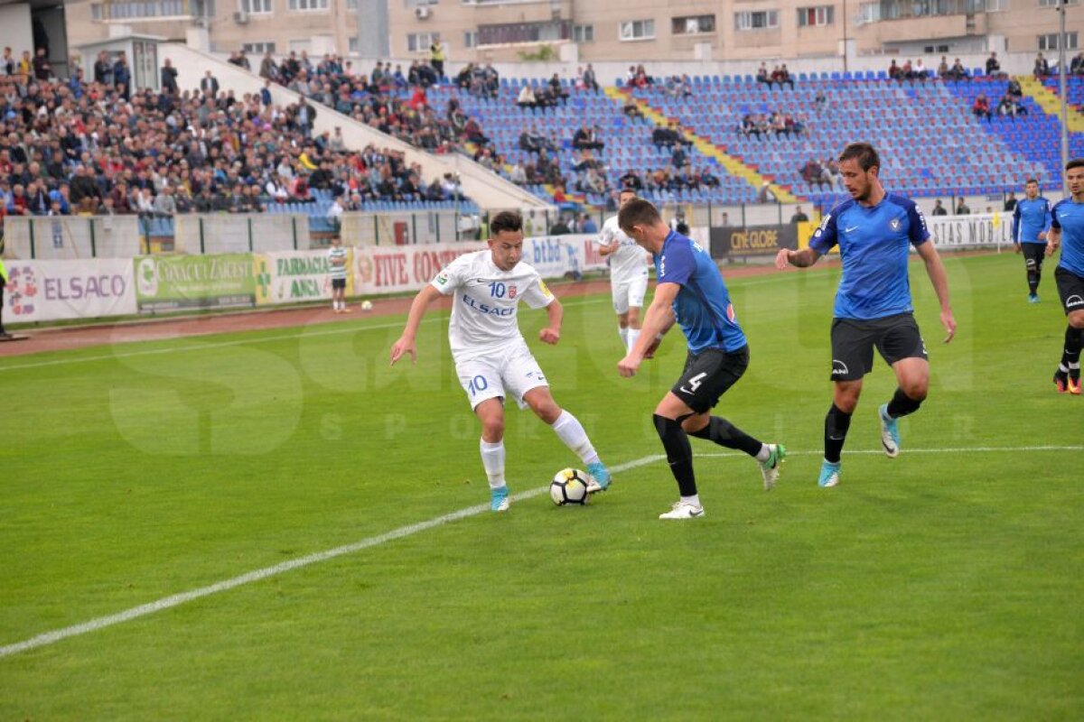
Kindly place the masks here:
POLYGON ((391 364, 410 354, 417 363, 415 337, 426 309, 441 296, 454 293, 448 340, 455 371, 470 408, 481 421, 482 467, 489 477, 490 509, 508 509, 504 478, 504 397, 520 408, 530 407, 586 464, 589 491, 609 486, 610 475, 595 452, 583 425, 562 409, 550 394, 550 384, 519 332, 516 314, 520 301, 546 310, 550 323, 539 332, 543 343, 560 340, 564 310, 539 272, 520 259, 524 221, 519 213, 502 211, 490 222, 489 249, 466 253, 448 264, 418 291, 411 304, 406 327, 391 346, 391 364))

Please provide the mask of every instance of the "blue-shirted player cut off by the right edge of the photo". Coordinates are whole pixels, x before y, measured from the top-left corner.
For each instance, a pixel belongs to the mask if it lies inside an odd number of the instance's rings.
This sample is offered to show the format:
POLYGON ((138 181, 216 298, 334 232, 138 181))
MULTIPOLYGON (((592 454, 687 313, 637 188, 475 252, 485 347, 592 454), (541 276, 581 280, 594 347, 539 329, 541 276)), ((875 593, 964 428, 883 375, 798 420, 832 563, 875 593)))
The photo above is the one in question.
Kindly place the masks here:
POLYGON ((1061 246, 1061 260, 1054 271, 1058 296, 1069 324, 1061 363, 1054 383, 1061 393, 1081 393, 1081 336, 1084 334, 1084 158, 1066 163, 1070 197, 1058 201, 1050 211, 1050 232, 1046 254, 1061 246))

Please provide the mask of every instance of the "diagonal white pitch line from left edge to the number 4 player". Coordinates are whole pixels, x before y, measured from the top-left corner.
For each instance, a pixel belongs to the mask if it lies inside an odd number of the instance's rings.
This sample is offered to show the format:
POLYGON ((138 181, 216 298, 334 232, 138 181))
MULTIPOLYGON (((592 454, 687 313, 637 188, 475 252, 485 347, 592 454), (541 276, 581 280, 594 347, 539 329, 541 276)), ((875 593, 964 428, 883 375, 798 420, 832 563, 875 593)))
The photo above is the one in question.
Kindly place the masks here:
MULTIPOLYGON (((653 463, 663 459, 661 455, 653 455, 641 457, 640 459, 634 459, 633 461, 627 461, 625 463, 612 467, 610 471, 617 473, 627 471, 629 469, 634 469, 636 467, 643 467, 645 464, 653 463)), ((527 491, 520 491, 519 494, 512 495, 513 501, 519 501, 521 499, 529 499, 531 497, 537 497, 540 494, 549 491, 549 486, 540 486, 534 489, 528 489, 527 491)), ((104 629, 106 627, 112 627, 113 625, 119 625, 125 621, 131 621, 132 619, 138 619, 139 617, 145 617, 149 614, 154 614, 155 612, 162 612, 163 609, 169 609, 175 606, 180 606, 188 602, 201 599, 203 596, 210 596, 211 594, 218 594, 219 592, 224 592, 234 587, 241 587, 243 585, 248 585, 254 581, 260 581, 261 579, 267 579, 268 577, 273 577, 293 569, 299 569, 304 566, 309 566, 310 564, 317 564, 319 562, 326 562, 330 559, 335 559, 336 556, 343 556, 345 554, 352 554, 359 552, 363 549, 369 549, 370 547, 377 547, 388 541, 393 541, 396 539, 401 539, 402 537, 409 537, 415 535, 420 531, 425 531, 434 527, 443 526, 449 522, 456 522, 461 518, 466 518, 468 516, 476 516, 482 512, 489 511, 489 504, 477 504, 475 507, 467 507, 466 509, 461 509, 459 511, 453 511, 450 514, 444 514, 442 516, 437 516, 430 518, 427 522, 418 522, 417 524, 409 524, 406 526, 401 526, 398 529, 392 529, 385 534, 379 534, 375 537, 369 537, 367 539, 362 539, 361 541, 356 541, 352 544, 346 544, 344 547, 336 547, 335 549, 328 549, 326 551, 317 552, 314 554, 309 554, 307 556, 300 556, 288 562, 283 562, 282 564, 275 564, 274 566, 266 566, 262 569, 256 569, 255 572, 249 572, 232 579, 225 579, 223 581, 209 585, 207 587, 201 587, 199 589, 193 589, 190 592, 181 592, 180 594, 172 594, 170 596, 165 596, 156 602, 151 602, 149 604, 141 604, 140 606, 134 606, 130 609, 125 609, 118 614, 108 615, 106 617, 99 617, 96 619, 91 619, 90 621, 85 621, 81 625, 73 625, 72 627, 64 627, 63 629, 56 629, 51 632, 46 632, 43 634, 38 634, 23 642, 16 642, 14 644, 9 644, 7 646, 0 647, 0 657, 8 657, 13 654, 18 654, 20 652, 27 652, 29 649, 35 649, 37 647, 47 646, 65 640, 69 636, 78 636, 80 634, 86 634, 88 632, 94 632, 99 629, 104 629)))

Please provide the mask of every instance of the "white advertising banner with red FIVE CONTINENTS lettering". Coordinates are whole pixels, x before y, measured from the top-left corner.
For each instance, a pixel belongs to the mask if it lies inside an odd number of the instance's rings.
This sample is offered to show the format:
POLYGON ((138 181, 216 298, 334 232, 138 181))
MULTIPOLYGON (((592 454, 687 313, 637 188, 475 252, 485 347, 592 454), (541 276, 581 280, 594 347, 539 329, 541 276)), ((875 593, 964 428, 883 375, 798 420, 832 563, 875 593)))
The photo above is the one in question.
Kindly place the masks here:
MULTIPOLYGON (((460 255, 483 248, 487 248, 486 244, 474 241, 356 248, 352 264, 353 293, 373 296, 416 291, 460 255)), ((526 255, 525 251, 524 257, 526 255)))

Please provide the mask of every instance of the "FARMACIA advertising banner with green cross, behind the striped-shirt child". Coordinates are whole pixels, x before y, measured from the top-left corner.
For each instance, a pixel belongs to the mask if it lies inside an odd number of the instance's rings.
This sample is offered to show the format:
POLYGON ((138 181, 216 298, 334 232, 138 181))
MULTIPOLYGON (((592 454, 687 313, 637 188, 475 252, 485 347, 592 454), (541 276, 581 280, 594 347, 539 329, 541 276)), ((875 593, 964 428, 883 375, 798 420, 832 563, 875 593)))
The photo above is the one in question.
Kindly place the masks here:
MULTIPOLYGON (((353 249, 347 248, 346 294, 353 296, 353 249)), ((330 301, 332 266, 326 250, 256 254, 256 303, 330 301)))

